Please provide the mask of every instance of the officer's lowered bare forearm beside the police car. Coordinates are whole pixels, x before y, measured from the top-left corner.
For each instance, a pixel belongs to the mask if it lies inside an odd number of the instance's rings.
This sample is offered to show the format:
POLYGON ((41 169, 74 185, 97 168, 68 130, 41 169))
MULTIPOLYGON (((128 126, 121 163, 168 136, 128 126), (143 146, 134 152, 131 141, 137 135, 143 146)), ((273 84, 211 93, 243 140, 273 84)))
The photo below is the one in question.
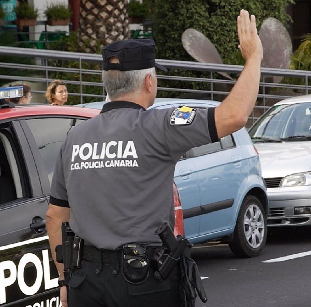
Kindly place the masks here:
POLYGON ((64 279, 64 266, 56 261, 55 246, 62 244, 62 223, 69 222, 70 208, 55 206, 49 204, 49 209, 45 216, 46 229, 49 236, 49 243, 51 248, 52 257, 58 269, 61 279, 64 279))

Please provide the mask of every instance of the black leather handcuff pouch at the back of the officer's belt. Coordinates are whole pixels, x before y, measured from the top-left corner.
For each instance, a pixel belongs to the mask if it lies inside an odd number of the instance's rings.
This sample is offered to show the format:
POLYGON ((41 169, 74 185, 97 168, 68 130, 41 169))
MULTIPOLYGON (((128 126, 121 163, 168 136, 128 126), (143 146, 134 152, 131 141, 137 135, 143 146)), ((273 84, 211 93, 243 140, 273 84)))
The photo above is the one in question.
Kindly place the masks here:
POLYGON ((131 284, 141 284, 148 278, 150 263, 144 245, 123 245, 121 271, 124 279, 131 284))

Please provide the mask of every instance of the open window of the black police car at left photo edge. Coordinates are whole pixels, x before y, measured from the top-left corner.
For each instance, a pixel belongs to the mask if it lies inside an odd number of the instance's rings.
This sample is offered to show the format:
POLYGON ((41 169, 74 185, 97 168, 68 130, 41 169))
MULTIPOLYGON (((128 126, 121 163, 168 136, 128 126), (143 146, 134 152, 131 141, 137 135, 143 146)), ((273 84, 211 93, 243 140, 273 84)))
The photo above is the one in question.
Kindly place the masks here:
POLYGON ((0 204, 22 197, 21 179, 12 146, 0 132, 0 204))

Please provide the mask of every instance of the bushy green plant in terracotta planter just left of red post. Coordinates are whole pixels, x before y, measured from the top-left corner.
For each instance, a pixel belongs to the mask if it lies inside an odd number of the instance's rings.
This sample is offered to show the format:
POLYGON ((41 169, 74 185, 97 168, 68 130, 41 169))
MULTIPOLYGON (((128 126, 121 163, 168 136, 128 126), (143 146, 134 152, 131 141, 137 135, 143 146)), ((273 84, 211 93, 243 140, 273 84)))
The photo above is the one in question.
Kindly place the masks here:
POLYGON ((50 26, 69 25, 70 17, 72 16, 71 7, 65 3, 51 3, 44 13, 48 19, 47 23, 50 26))

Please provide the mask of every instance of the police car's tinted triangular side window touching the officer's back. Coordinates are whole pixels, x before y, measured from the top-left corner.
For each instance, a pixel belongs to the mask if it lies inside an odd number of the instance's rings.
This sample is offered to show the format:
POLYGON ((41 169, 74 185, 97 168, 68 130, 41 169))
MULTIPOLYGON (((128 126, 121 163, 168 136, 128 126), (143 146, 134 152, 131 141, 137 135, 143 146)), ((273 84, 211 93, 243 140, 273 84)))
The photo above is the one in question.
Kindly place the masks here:
POLYGON ((38 145, 49 181, 52 181, 59 149, 67 134, 83 119, 76 118, 34 118, 26 120, 38 145))

